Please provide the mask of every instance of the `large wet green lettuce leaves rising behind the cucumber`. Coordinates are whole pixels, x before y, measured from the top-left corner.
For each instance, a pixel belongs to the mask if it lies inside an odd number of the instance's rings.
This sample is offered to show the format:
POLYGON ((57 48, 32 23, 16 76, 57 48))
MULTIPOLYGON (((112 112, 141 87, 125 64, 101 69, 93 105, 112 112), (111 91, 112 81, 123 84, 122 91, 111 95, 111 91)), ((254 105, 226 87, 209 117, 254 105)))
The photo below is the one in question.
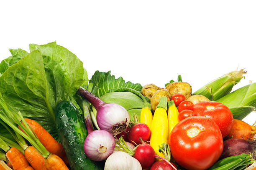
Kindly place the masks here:
POLYGON ((36 120, 57 138, 54 108, 59 101, 69 100, 79 109, 73 96, 87 81, 83 64, 56 42, 31 44, 30 50, 0 77, 0 93, 10 107, 36 120))

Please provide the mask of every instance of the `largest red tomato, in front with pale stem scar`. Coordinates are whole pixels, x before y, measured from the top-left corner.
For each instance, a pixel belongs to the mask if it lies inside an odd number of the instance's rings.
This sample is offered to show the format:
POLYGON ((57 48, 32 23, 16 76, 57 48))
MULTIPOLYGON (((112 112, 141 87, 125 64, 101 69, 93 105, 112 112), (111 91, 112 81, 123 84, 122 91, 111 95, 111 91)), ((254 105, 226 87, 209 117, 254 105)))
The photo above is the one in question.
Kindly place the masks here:
POLYGON ((172 130, 169 145, 174 160, 189 170, 206 170, 223 151, 218 125, 208 117, 192 116, 180 121, 172 130))

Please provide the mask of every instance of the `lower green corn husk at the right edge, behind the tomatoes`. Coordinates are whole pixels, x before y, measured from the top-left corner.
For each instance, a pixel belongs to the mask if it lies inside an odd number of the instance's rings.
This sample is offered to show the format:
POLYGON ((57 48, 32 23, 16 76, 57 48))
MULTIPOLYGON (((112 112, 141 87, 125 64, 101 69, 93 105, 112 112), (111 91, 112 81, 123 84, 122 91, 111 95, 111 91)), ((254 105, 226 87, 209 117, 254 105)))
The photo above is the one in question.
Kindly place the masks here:
POLYGON ((233 117, 242 120, 256 108, 256 82, 235 90, 217 100, 228 106, 233 117))

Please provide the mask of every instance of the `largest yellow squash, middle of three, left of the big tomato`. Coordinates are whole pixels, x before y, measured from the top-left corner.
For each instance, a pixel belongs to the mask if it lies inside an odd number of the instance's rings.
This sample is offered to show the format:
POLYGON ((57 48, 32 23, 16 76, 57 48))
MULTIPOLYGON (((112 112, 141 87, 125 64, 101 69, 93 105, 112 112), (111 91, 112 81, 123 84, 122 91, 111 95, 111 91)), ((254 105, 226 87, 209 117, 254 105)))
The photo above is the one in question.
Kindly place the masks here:
POLYGON ((167 143, 168 140, 168 119, 167 119, 167 97, 160 98, 159 104, 154 112, 151 123, 150 145, 155 150, 156 155, 164 157, 163 153, 159 153, 159 146, 167 143))

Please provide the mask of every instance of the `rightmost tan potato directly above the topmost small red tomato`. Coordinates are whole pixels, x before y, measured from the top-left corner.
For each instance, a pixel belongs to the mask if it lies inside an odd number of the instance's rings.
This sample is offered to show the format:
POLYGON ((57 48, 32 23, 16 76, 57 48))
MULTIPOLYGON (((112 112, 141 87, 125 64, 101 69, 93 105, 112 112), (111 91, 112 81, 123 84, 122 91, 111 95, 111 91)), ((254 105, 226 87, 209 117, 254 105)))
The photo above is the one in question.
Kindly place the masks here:
POLYGON ((172 82, 165 88, 168 90, 171 96, 176 93, 181 93, 186 97, 186 99, 190 97, 192 93, 192 88, 187 82, 172 82))

